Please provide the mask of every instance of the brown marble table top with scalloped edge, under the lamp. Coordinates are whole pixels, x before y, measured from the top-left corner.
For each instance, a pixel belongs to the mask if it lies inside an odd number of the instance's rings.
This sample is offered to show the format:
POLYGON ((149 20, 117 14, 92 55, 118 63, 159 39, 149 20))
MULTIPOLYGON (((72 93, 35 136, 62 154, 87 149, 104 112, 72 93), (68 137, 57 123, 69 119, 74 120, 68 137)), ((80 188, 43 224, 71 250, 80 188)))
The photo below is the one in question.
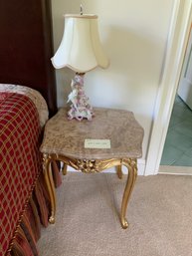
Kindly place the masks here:
POLYGON ((143 128, 133 113, 95 108, 92 121, 69 121, 61 109, 45 127, 41 152, 79 159, 138 158, 142 155, 143 128), (109 139, 110 148, 85 148, 85 139, 109 139))

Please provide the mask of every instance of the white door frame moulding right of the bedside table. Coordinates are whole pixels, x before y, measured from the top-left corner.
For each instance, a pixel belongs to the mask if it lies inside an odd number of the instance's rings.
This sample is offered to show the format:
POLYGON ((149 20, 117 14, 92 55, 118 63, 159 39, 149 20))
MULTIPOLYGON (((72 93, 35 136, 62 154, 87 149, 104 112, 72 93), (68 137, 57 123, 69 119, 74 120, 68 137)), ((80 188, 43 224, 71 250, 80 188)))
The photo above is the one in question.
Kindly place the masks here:
POLYGON ((192 22, 192 0, 175 0, 144 175, 158 173, 192 22))

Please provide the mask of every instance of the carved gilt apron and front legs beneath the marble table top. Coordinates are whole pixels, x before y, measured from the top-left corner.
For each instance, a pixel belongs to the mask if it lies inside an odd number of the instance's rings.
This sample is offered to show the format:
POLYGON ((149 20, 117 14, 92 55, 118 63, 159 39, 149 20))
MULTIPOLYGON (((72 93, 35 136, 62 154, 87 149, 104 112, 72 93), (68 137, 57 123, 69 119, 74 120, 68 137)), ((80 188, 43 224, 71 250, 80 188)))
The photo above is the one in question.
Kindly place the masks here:
POLYGON ((70 165, 77 170, 81 170, 85 173, 95 173, 101 170, 110 168, 112 166, 116 166, 116 173, 119 178, 122 178, 121 165, 124 165, 128 169, 128 177, 127 182, 124 188, 124 193, 122 197, 121 203, 121 214, 120 221, 122 228, 128 227, 128 222, 125 218, 127 203, 130 198, 130 194, 132 192, 134 182, 137 176, 137 166, 136 159, 128 158, 128 159, 104 159, 104 160, 86 160, 86 159, 75 159, 69 158, 63 155, 53 154, 43 154, 43 163, 44 163, 44 175, 45 180, 48 186, 50 199, 51 199, 51 216, 49 218, 50 223, 55 223, 55 214, 56 214, 56 195, 55 195, 55 186, 53 182, 53 176, 51 171, 51 162, 52 161, 62 161, 64 162, 63 174, 67 174, 67 166, 70 165))

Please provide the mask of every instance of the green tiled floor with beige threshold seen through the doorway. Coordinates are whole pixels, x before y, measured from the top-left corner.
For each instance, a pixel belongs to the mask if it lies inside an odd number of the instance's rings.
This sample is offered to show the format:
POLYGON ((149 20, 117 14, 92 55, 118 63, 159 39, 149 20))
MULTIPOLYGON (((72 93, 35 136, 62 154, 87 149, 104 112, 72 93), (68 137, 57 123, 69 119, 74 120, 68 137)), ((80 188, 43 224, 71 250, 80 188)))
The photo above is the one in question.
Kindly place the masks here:
POLYGON ((192 111, 176 95, 159 173, 192 174, 192 111))

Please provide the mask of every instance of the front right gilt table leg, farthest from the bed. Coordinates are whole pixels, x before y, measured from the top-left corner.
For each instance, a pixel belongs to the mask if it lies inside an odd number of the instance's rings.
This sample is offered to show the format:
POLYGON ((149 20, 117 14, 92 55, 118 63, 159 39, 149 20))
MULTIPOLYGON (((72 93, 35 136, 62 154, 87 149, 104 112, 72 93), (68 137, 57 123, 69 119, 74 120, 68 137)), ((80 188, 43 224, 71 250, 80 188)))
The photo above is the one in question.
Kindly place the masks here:
POLYGON ((125 218, 126 215, 126 208, 127 208, 127 203, 130 198, 130 194, 132 192, 132 189, 134 187, 134 183, 136 180, 137 176, 137 165, 136 165, 136 159, 123 159, 122 162, 123 165, 125 165, 128 169, 128 175, 127 175, 127 181, 126 185, 124 188, 124 193, 122 197, 122 204, 121 204, 121 225, 122 228, 127 228, 128 227, 128 222, 125 218))

